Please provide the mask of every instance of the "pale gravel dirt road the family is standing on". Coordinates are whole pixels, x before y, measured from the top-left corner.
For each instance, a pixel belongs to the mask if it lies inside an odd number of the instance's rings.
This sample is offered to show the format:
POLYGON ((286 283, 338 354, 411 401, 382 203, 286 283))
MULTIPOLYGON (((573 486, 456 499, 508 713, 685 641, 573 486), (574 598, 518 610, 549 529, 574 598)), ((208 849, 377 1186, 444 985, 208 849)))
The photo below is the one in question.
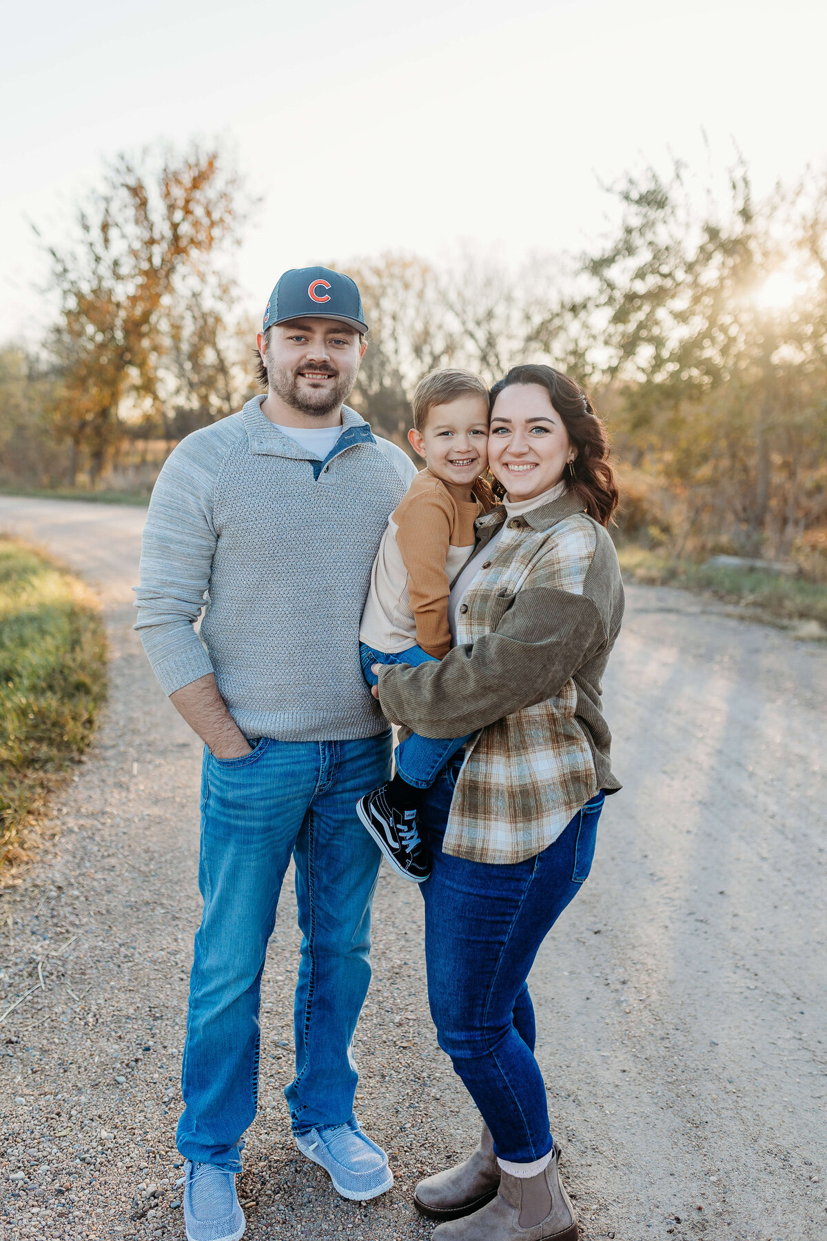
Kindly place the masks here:
MULTIPOLYGON (((201 746, 130 629, 143 520, 0 498, 0 530, 99 589, 112 642, 109 706, 53 807, 60 838, 0 898, 0 1013, 37 988, 0 1024, 2 1237, 184 1236, 174 1134, 201 746)), ((625 789, 532 974, 586 1241, 827 1237, 826 696, 823 645, 678 591, 629 591, 606 684, 625 789)), ((374 906, 357 1111, 397 1183, 366 1206, 290 1143, 296 959, 288 884, 239 1186, 248 1236, 425 1237, 413 1185, 470 1148, 477 1119, 428 1015, 417 892, 383 872, 374 906)))

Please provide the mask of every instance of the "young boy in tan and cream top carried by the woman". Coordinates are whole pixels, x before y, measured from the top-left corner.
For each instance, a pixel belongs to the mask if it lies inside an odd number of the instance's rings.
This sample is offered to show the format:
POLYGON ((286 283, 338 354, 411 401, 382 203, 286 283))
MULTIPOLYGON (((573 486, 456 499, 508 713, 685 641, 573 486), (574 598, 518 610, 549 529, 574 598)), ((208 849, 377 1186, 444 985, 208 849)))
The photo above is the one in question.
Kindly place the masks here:
MULTIPOLYGON (((362 613, 362 669, 424 664, 451 647, 450 585, 474 551, 474 522, 492 505, 480 479, 489 464, 489 390, 469 371, 433 371, 417 386, 408 439, 427 469, 391 514, 362 613)), ((422 884, 430 859, 417 831, 422 789, 467 737, 435 741, 417 733, 396 750, 396 776, 357 803, 356 812, 397 874, 422 884)))

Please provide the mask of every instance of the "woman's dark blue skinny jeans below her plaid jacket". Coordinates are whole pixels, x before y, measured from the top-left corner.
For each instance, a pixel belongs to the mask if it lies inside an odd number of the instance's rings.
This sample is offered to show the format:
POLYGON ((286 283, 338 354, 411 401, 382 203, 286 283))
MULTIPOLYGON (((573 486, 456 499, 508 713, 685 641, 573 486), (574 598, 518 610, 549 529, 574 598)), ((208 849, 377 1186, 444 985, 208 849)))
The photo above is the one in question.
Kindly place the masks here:
POLYGON ((533 1163, 552 1149, 552 1136, 526 979, 543 939, 588 877, 604 794, 578 810, 536 858, 484 865, 443 853, 459 769, 456 759, 449 763, 418 815, 433 858, 430 879, 420 887, 430 1013, 439 1045, 489 1126, 497 1155, 533 1163))

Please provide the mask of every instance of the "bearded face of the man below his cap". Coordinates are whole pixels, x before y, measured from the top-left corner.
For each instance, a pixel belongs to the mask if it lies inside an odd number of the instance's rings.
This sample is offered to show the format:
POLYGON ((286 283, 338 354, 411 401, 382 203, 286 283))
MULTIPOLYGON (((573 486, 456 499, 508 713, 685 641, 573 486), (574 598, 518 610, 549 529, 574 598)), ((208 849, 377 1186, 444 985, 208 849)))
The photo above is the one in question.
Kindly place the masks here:
POLYGON ((335 319, 291 319, 257 338, 272 392, 285 405, 324 418, 351 393, 365 352, 358 333, 335 319))

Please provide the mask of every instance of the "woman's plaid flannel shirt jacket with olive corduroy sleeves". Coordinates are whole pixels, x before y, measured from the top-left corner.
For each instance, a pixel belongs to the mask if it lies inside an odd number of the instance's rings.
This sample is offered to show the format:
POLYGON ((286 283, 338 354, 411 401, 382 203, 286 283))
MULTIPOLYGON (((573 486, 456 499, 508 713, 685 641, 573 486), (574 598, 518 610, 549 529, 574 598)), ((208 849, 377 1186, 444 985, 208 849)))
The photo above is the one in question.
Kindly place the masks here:
MULTIPOLYGON (((477 520, 477 550, 505 516, 498 508, 477 520)), ((440 663, 381 669, 388 719, 425 737, 481 730, 456 782, 445 853, 522 861, 596 792, 620 788, 600 700, 622 613, 611 539, 567 491, 507 521, 440 663)))

